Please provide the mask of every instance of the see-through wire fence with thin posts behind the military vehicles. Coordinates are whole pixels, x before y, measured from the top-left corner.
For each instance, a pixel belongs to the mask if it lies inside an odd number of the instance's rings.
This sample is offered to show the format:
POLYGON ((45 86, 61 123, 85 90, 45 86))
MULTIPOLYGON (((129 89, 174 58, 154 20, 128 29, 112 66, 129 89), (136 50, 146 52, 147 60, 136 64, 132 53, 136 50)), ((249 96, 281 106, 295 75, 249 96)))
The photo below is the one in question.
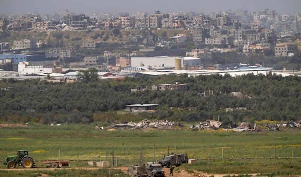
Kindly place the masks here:
MULTIPOLYGON (((139 146, 138 148, 102 147, 105 152, 95 153, 94 156, 82 159, 65 159, 70 162, 108 161, 110 166, 143 165, 147 162, 158 162, 171 153, 187 153, 189 159, 196 160, 269 160, 269 159, 299 159, 301 158, 301 145, 295 146, 261 146, 248 148, 206 147, 206 148, 151 148, 139 146), (257 148, 257 149, 256 149, 257 148)), ((60 160, 60 150, 59 158, 60 160)), ((42 158, 42 157, 41 157, 42 158)), ((34 157, 35 159, 35 157, 34 157)), ((36 160, 42 162, 46 160, 36 160)), ((5 162, 5 161, 0 161, 5 162)))

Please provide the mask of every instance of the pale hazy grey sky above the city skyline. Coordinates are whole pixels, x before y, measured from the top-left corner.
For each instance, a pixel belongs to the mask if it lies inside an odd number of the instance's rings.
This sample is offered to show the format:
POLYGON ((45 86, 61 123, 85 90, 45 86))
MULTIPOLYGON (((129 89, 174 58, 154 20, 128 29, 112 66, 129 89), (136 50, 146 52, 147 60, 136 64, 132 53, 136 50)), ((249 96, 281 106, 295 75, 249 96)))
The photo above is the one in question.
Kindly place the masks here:
POLYGON ((0 14, 61 13, 68 9, 75 13, 128 12, 144 10, 154 13, 195 11, 211 13, 219 10, 247 9, 249 12, 269 8, 279 14, 301 13, 301 0, 0 0, 0 14))

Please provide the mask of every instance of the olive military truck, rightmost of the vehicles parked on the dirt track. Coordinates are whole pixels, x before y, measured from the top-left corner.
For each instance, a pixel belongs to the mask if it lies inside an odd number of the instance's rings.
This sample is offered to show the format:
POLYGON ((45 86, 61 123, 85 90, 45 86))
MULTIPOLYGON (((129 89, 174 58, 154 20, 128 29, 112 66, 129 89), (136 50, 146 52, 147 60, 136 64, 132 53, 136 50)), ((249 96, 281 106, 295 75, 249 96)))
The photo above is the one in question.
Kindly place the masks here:
POLYGON ((165 156, 163 160, 158 161, 158 163, 164 167, 171 167, 172 165, 175 165, 176 167, 180 166, 182 163, 188 163, 188 157, 187 154, 171 154, 168 156, 165 156))

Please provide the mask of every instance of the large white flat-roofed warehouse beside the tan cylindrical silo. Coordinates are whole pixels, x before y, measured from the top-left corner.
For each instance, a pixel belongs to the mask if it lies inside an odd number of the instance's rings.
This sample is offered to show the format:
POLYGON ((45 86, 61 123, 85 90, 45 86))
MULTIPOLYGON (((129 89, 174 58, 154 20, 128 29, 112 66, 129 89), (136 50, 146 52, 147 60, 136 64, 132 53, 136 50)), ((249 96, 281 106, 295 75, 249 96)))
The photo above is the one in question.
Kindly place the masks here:
POLYGON ((140 67, 144 65, 145 67, 151 66, 152 68, 164 68, 164 67, 175 67, 175 59, 181 59, 182 57, 132 57, 131 66, 140 67))

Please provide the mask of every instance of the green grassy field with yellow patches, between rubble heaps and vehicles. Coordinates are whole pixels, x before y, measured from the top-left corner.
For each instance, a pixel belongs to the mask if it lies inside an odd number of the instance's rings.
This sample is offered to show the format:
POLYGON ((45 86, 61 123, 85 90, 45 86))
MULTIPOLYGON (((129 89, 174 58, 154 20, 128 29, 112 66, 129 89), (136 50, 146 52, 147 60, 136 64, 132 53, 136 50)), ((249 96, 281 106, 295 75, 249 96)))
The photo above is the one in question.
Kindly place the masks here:
MULTIPOLYGON (((207 173, 268 175, 301 174, 301 159, 244 159, 227 158, 301 157, 301 135, 291 132, 224 132, 224 131, 140 131, 95 130, 89 125, 30 125, 0 129, 0 160, 14 155, 18 149, 29 149, 34 160, 56 160, 60 150, 63 160, 108 160, 118 157, 119 165, 138 164, 140 148, 142 163, 160 160, 169 153, 188 153, 199 158, 197 164, 182 165, 180 169, 207 173), (176 149, 175 149, 176 148, 176 149), (223 159, 220 157, 223 153, 223 159), (107 155, 106 155, 107 154, 107 155), (220 158, 211 160, 210 158, 220 158), (206 159, 206 160, 204 160, 206 159)), ((71 162, 70 167, 86 166, 71 162)), ((41 167, 41 166, 37 166, 41 167)), ((1 168, 6 168, 2 165, 1 168)), ((41 168, 44 168, 43 166, 41 168)), ((1 173, 0 173, 1 174, 1 173)))

